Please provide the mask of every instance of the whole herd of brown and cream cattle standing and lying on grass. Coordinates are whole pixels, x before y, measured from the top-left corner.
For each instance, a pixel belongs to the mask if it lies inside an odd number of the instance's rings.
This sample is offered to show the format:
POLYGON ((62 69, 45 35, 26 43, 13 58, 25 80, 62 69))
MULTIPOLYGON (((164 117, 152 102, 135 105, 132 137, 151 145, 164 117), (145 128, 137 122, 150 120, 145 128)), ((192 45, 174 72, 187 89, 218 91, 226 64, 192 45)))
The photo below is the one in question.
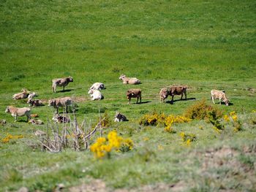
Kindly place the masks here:
MULTIPOLYGON (((131 84, 131 85, 138 85, 140 84, 140 80, 135 77, 126 77, 124 74, 121 74, 119 77, 119 80, 122 80, 124 84, 131 84)), ((54 93, 56 93, 56 86, 62 87, 63 91, 64 88, 69 84, 69 82, 73 82, 72 77, 64 77, 59 79, 53 79, 52 80, 52 90, 54 93)), ((105 89, 105 85, 102 82, 95 82, 91 87, 89 88, 89 95, 91 96, 91 101, 94 100, 101 100, 104 99, 104 96, 100 92, 101 90, 105 89)), ((131 103, 132 98, 137 98, 136 104, 138 104, 138 101, 140 100, 141 103, 141 89, 140 88, 131 88, 127 90, 127 99, 128 104, 131 103)), ((171 96, 172 99, 170 103, 173 103, 173 98, 175 95, 181 95, 181 99, 183 99, 183 96, 185 96, 185 99, 187 99, 187 85, 172 85, 169 87, 162 88, 159 92, 160 96, 160 102, 165 103, 165 100, 168 96, 171 96)), ((27 104, 29 104, 30 107, 39 107, 43 106, 43 101, 39 99, 33 99, 34 96, 37 96, 36 93, 30 92, 26 89, 22 89, 20 93, 16 93, 12 96, 12 99, 28 99, 27 104)), ((214 99, 219 99, 219 104, 222 104, 222 101, 225 102, 225 104, 228 106, 229 101, 227 99, 227 96, 225 94, 225 91, 218 91, 218 90, 211 90, 211 100, 215 104, 214 99)), ((57 123, 69 123, 70 119, 64 116, 59 115, 59 107, 64 108, 64 112, 67 113, 67 107, 73 104, 73 101, 70 97, 63 97, 63 98, 56 98, 56 99, 50 99, 48 100, 48 106, 54 107, 56 112, 53 115, 53 121, 57 123)), ((32 124, 42 124, 40 120, 34 120, 31 119, 31 108, 29 107, 13 107, 9 106, 6 108, 5 112, 10 112, 12 117, 14 117, 14 120, 16 122, 17 117, 19 116, 25 116, 27 117, 27 122, 32 124)), ((120 121, 127 121, 127 118, 125 115, 121 114, 120 112, 116 112, 115 115, 115 122, 120 121)))

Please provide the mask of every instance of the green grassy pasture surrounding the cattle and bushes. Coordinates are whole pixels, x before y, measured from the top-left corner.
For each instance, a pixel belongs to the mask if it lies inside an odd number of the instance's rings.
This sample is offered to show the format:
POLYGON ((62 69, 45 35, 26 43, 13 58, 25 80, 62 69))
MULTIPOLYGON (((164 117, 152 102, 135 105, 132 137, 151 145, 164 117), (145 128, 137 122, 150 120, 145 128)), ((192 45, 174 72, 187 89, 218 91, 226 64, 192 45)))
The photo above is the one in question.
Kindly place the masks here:
MULTIPOLYGON (((0 142, 0 191, 255 191, 256 189, 256 35, 255 1, 0 1, 0 140, 7 134, 22 139, 0 142), (142 84, 123 85, 120 74, 142 84), (51 80, 72 76, 67 91, 51 91, 51 80), (88 88, 104 82, 105 99, 90 101, 88 88), (186 84, 187 101, 161 104, 159 90, 186 84), (78 123, 91 126, 100 115, 113 121, 116 111, 129 121, 103 130, 129 137, 133 150, 97 160, 89 151, 42 152, 33 126, 7 106, 27 107, 13 100, 21 88, 37 99, 71 96, 78 123), (143 104, 127 104, 126 91, 141 88, 143 104), (206 120, 164 126, 140 126, 152 112, 184 115, 206 99, 211 89, 225 90, 241 131, 232 126, 218 133, 206 120), (189 146, 180 133, 195 134, 189 146), (85 187, 86 186, 86 187, 85 187)), ((168 99, 170 100, 170 98, 168 99)), ((45 124, 53 117, 47 104, 34 107, 45 124)), ((96 134, 91 143, 99 137, 96 134)))

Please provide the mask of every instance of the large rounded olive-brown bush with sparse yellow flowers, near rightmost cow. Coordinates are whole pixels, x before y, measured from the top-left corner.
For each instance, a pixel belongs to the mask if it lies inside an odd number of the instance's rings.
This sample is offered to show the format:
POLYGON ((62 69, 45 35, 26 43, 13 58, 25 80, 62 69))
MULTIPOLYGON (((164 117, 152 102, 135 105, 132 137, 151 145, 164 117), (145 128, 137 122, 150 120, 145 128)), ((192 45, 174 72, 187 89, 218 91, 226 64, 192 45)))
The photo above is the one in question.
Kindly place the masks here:
POLYGON ((203 99, 188 107, 185 116, 197 120, 217 120, 222 117, 222 111, 218 110, 217 107, 206 104, 206 100, 203 99))

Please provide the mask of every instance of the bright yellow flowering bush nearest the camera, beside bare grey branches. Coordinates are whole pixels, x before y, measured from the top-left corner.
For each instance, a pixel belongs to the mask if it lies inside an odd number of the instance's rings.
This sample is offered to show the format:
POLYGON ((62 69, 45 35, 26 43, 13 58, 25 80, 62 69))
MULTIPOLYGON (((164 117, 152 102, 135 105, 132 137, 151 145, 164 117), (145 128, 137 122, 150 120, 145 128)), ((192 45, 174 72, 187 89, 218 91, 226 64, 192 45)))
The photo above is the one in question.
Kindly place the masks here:
POLYGON ((96 158, 110 157, 113 150, 127 152, 132 150, 132 139, 124 139, 117 135, 116 131, 110 131, 108 137, 99 137, 97 141, 91 145, 90 150, 96 158))

